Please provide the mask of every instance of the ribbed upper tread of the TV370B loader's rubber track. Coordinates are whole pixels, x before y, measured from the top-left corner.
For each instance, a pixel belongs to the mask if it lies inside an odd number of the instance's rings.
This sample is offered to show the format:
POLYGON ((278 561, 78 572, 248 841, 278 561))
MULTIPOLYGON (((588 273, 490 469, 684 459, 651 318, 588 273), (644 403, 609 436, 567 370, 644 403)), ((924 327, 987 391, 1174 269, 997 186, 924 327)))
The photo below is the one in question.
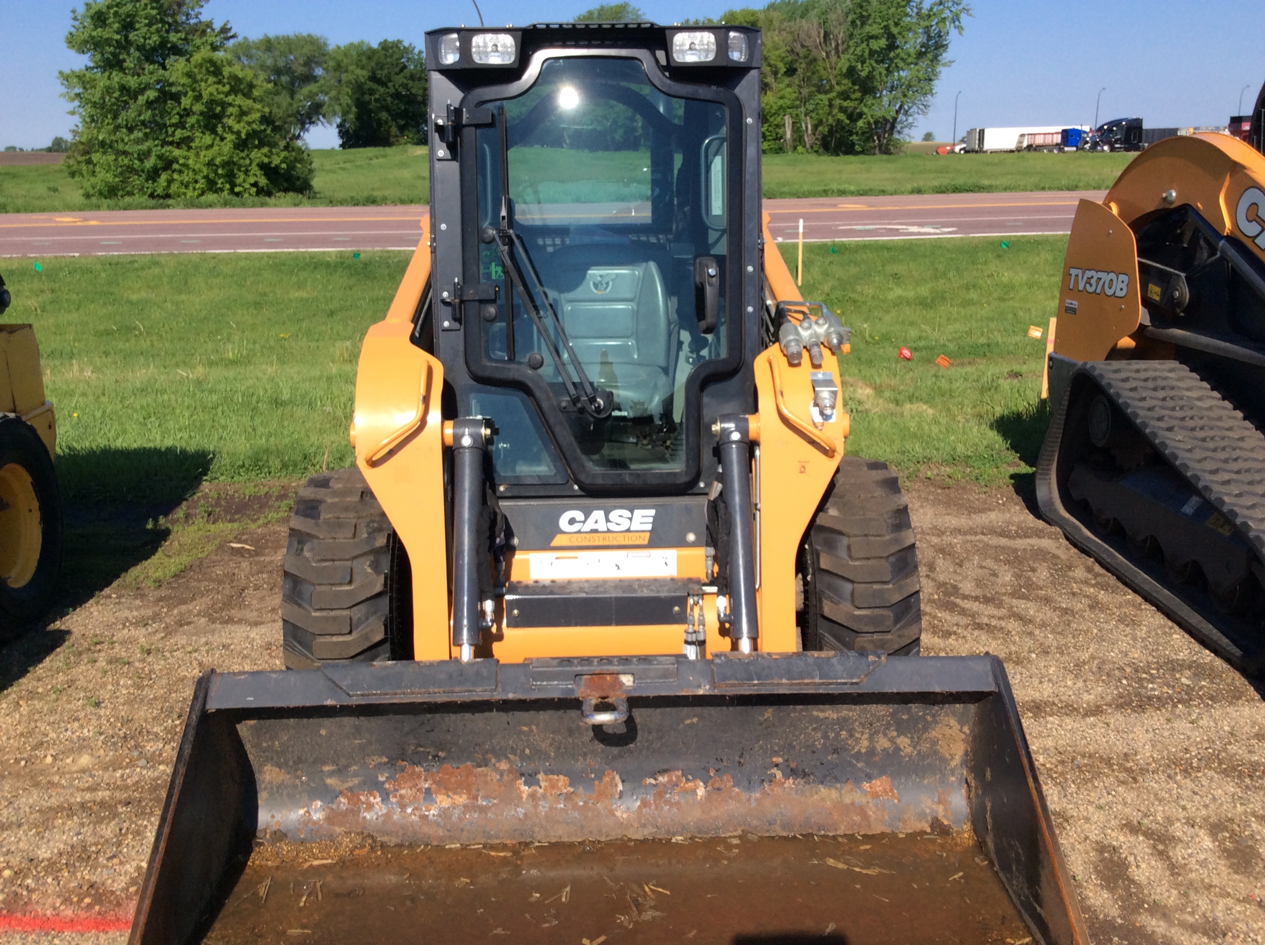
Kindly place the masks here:
POLYGON ((1083 372, 1265 558, 1260 430, 1176 361, 1089 362, 1083 372))

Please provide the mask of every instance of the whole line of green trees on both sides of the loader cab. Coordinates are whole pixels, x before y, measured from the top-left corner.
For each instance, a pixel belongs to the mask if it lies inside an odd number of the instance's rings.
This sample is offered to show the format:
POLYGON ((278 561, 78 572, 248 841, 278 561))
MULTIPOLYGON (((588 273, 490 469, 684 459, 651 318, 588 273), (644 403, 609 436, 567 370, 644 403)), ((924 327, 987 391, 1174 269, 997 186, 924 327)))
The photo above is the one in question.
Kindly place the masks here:
MULTIPOLYGON (((400 39, 330 46, 238 38, 205 0, 87 0, 61 73, 78 118, 66 166, 90 197, 311 191, 302 144, 329 121, 344 148, 426 140, 426 62, 400 39)), ((773 0, 717 20, 764 34, 765 151, 891 153, 925 114, 964 0, 773 0)), ((644 20, 631 3, 581 20, 644 20)))

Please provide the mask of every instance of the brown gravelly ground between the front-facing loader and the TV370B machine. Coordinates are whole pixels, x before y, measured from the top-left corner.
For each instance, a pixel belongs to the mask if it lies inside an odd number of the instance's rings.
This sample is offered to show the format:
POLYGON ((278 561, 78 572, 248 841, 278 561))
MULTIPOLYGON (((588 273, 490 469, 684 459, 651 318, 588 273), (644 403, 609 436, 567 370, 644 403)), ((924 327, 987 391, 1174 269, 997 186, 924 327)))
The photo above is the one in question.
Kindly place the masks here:
POLYGON ((910 492, 923 653, 1006 660, 1092 939, 1265 941, 1260 692, 1013 492, 910 492))

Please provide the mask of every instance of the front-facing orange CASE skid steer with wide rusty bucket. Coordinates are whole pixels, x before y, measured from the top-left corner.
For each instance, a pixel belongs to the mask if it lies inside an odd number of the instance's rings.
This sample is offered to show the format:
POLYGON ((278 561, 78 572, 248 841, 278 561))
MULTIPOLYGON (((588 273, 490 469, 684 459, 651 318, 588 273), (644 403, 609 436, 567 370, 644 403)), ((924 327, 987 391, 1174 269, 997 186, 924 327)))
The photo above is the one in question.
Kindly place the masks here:
POLYGON ((911 655, 848 330, 762 226, 759 32, 426 58, 292 670, 199 683, 133 941, 1085 941, 999 662, 911 655))

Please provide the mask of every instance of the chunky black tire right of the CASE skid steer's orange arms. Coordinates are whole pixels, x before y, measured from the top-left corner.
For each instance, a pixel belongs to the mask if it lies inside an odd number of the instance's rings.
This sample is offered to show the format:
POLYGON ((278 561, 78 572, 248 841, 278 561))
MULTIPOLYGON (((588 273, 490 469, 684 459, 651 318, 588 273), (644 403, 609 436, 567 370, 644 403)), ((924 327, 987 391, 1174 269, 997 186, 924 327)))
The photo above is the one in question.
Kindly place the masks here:
POLYGON ((917 655, 918 553, 910 506, 887 463, 844 457, 798 562, 806 650, 917 655))

